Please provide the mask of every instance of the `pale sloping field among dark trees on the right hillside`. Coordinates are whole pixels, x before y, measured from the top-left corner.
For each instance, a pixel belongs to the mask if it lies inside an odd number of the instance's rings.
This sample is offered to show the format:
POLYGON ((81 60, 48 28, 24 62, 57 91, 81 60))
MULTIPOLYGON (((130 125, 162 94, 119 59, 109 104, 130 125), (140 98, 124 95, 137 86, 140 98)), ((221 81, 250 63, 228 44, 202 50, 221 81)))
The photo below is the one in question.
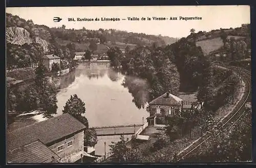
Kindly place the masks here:
POLYGON ((222 39, 220 37, 214 39, 207 39, 196 42, 197 46, 200 46, 203 50, 204 55, 207 55, 211 51, 215 51, 223 46, 222 39))

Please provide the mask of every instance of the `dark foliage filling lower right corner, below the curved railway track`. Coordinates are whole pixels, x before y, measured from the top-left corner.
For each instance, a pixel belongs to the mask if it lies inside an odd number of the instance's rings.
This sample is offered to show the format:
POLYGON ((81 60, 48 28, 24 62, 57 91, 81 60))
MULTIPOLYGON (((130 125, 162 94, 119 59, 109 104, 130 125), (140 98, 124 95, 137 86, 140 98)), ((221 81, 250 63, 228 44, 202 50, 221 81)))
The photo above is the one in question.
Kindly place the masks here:
POLYGON ((251 111, 236 123, 216 128, 212 137, 185 162, 239 162, 252 160, 251 111))

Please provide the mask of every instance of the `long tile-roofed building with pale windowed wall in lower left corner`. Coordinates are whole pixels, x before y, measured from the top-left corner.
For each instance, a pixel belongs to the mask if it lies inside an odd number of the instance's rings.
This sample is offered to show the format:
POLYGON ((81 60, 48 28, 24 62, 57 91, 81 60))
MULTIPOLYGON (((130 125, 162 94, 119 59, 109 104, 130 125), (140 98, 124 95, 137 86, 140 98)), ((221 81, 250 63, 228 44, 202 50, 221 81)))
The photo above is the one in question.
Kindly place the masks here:
POLYGON ((7 133, 8 163, 77 162, 83 151, 84 126, 63 114, 7 133))

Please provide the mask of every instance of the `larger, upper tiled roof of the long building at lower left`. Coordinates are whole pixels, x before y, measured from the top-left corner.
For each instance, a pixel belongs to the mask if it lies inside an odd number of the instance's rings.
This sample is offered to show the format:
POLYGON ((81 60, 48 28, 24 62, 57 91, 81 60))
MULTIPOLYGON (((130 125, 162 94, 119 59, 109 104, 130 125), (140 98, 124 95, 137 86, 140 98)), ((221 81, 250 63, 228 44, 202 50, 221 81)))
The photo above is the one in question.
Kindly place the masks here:
POLYGON ((37 122, 7 133, 7 149, 31 144, 37 139, 44 144, 86 128, 69 114, 63 114, 45 121, 37 122))

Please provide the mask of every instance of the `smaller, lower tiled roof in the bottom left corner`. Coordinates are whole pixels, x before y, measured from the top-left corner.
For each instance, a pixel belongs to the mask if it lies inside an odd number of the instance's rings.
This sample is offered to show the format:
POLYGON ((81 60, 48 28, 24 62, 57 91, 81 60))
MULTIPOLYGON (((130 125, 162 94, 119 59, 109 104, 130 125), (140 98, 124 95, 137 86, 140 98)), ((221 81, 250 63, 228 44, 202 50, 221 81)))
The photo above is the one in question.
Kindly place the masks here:
POLYGON ((56 153, 40 141, 7 152, 7 160, 11 163, 58 162, 59 159, 61 158, 56 153))

